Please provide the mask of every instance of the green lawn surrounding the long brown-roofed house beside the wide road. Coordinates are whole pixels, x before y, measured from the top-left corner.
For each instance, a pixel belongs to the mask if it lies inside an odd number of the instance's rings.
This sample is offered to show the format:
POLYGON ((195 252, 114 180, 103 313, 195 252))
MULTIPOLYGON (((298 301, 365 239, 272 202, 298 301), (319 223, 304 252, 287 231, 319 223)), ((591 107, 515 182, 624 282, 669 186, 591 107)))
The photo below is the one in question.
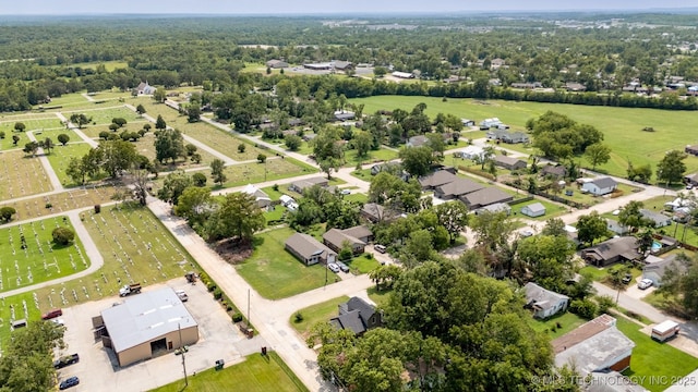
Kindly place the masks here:
POLYGON ((324 265, 305 266, 286 250, 284 243, 294 233, 277 229, 255 235, 252 256, 236 266, 244 280, 265 298, 279 299, 325 284, 324 265))

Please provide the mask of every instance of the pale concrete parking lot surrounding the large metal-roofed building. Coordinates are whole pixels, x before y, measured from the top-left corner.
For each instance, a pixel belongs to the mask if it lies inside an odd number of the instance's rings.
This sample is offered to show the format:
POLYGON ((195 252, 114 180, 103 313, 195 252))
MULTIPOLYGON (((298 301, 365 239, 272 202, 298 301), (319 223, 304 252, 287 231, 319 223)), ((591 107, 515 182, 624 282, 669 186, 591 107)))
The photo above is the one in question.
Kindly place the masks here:
MULTIPOLYGON (((180 278, 144 291, 164 286, 186 292, 189 301, 184 304, 198 323, 198 342, 185 354, 189 376, 214 367, 217 359, 224 359, 226 366, 234 364, 266 345, 260 336, 246 339, 201 282, 192 285, 180 278)), ((95 341, 92 318, 125 299, 109 297, 63 309, 68 347, 61 355, 80 355, 77 364, 57 370, 59 381, 71 376, 80 378, 80 385, 70 391, 147 391, 184 377, 182 357, 173 352, 121 368, 113 353, 104 348, 101 341, 95 341)))

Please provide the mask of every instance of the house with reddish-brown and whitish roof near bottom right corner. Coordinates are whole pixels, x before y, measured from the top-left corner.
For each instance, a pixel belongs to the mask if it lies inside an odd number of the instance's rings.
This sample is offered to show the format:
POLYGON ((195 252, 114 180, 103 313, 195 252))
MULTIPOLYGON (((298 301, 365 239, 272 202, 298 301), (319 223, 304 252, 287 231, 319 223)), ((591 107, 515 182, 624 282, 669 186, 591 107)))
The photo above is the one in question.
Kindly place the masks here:
POLYGON ((601 315, 552 341, 555 366, 573 366, 581 377, 595 371, 623 371, 630 367, 635 343, 601 315))

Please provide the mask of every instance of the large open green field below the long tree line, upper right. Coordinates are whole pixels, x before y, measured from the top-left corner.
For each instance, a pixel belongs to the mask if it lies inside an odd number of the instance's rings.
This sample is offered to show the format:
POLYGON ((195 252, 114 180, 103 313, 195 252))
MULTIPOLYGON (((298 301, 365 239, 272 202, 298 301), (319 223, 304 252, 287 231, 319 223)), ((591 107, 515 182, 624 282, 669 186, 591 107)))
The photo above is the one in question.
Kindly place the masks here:
MULTIPOLYGON (((695 113, 688 111, 474 99, 448 99, 444 102, 441 98, 402 96, 359 98, 352 99, 351 102, 364 103, 364 113, 396 108, 409 111, 418 103, 424 102, 425 112, 431 118, 438 112, 474 119, 478 122, 497 117, 515 130, 524 130, 526 121, 531 118, 538 118, 549 110, 556 111, 603 132, 604 143, 613 152, 609 163, 598 169, 618 176, 626 174, 628 160, 635 167, 650 163, 655 168, 667 150, 683 150, 687 144, 698 144, 698 139, 691 135, 690 127, 687 126, 695 113), (642 128, 646 126, 653 127, 655 132, 643 132, 642 128)), ((688 172, 698 171, 698 157, 689 157, 685 162, 688 172)))

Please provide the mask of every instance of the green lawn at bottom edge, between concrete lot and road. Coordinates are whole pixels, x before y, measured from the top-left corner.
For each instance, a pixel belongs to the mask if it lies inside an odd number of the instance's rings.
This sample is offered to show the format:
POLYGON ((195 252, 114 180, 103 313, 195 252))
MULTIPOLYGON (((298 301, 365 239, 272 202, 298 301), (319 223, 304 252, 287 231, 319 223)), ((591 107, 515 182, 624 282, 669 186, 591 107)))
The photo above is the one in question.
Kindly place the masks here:
POLYGON ((293 375, 275 352, 267 352, 264 357, 252 354, 240 364, 224 368, 220 371, 208 369, 189 376, 189 385, 179 380, 153 390, 153 392, 305 392, 308 389, 293 375))

